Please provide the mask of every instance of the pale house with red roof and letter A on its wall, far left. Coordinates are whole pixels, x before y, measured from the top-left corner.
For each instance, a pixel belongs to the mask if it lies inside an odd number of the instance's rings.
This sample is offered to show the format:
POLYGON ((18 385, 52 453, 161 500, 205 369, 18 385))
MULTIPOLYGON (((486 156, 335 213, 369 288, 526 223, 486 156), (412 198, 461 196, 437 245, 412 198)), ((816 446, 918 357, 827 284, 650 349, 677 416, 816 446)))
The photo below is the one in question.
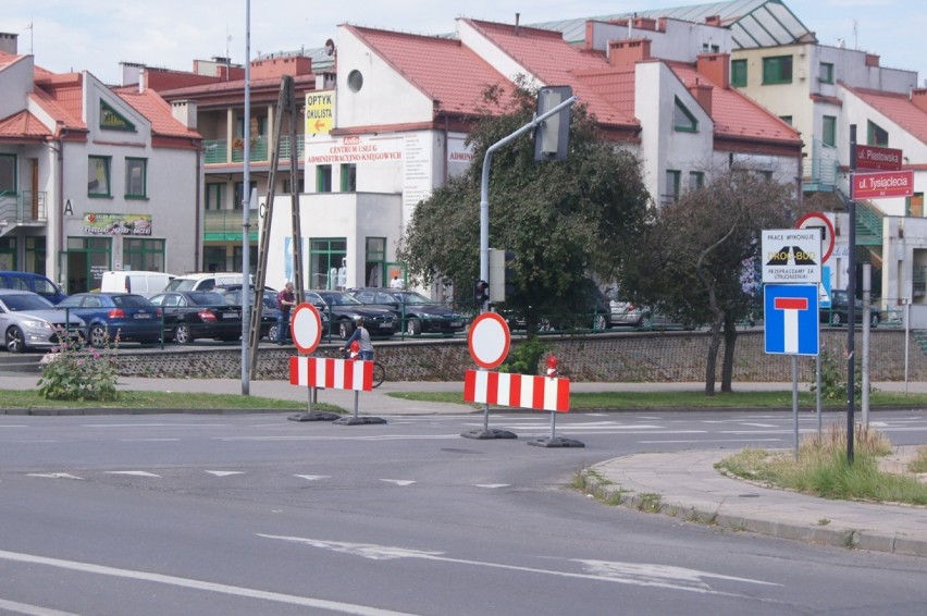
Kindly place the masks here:
POLYGON ((0 269, 66 293, 199 260, 201 138, 184 104, 55 74, 0 35, 0 269))

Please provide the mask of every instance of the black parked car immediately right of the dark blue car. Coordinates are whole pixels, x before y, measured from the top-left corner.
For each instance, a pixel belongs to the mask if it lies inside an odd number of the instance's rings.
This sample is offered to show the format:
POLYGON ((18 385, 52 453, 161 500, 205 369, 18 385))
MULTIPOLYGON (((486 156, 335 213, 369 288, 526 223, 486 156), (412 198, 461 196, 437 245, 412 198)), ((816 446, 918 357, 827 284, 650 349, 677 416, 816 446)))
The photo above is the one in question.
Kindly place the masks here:
POLYGON ((221 293, 160 293, 151 303, 164 311, 164 336, 177 344, 197 338, 231 342, 242 337, 242 306, 228 304, 221 293))

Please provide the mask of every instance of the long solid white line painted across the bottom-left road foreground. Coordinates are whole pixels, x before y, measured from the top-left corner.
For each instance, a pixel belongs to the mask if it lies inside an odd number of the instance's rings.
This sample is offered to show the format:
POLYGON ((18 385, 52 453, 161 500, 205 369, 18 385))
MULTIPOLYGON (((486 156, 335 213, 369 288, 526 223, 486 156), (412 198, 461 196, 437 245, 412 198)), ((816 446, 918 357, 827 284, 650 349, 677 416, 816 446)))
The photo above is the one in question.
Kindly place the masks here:
POLYGON ((286 603, 289 605, 300 605, 306 607, 316 607, 319 609, 331 609, 342 614, 354 614, 356 616, 416 616, 407 612, 393 612, 391 609, 380 609, 378 607, 369 607, 367 605, 357 605, 355 603, 342 603, 339 601, 327 601, 324 599, 314 599, 311 596, 298 596, 295 594, 283 594, 280 592, 268 592, 258 589, 235 587, 214 582, 206 582, 201 580, 191 580, 188 578, 178 578, 175 576, 165 576, 161 574, 149 574, 147 571, 137 571, 133 569, 120 569, 116 567, 106 567, 102 565, 92 565, 90 563, 81 563, 77 560, 63 560, 61 558, 47 558, 45 556, 35 556, 33 554, 21 554, 17 552, 0 551, 0 559, 12 560, 15 563, 28 563, 32 565, 44 565, 47 567, 58 567, 60 569, 69 569, 72 571, 82 571, 86 574, 96 574, 99 576, 111 576, 115 578, 125 578, 132 580, 141 580, 152 583, 162 583, 168 586, 188 588, 193 590, 201 590, 206 592, 215 592, 228 594, 233 596, 244 596, 247 599, 257 599, 262 601, 273 601, 276 603, 286 603))

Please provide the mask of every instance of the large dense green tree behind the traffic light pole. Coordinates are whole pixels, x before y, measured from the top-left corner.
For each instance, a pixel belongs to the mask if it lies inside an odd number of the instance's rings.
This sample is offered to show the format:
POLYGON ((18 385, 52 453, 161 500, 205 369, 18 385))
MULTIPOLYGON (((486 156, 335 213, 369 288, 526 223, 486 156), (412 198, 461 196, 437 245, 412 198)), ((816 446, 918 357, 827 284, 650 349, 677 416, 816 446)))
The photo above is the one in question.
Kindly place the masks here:
MULTIPOLYGON (((484 97, 498 101, 497 94, 484 97)), ((416 207, 398 251, 415 280, 455 282, 458 297, 470 294, 479 278, 483 159, 531 121, 535 97, 519 85, 504 113, 482 118, 468 137, 473 164, 416 207)), ((638 159, 606 140, 584 106, 574 104, 567 160, 536 162, 526 134, 494 152, 490 171, 490 246, 515 252, 506 308, 527 319, 529 332, 541 315, 567 319, 586 310, 571 291, 586 276, 610 280, 645 223, 650 196, 638 159)))

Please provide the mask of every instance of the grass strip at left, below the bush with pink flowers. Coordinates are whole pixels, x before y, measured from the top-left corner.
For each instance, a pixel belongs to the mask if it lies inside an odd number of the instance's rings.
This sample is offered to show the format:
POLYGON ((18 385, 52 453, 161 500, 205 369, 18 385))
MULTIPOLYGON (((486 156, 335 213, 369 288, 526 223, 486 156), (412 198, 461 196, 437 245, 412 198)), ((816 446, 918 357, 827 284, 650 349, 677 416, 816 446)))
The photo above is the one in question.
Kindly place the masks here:
MULTIPOLYGON (((42 408, 169 408, 169 409, 231 409, 231 410, 306 410, 307 403, 243 396, 236 394, 196 394, 174 392, 129 392, 122 391, 113 402, 50 401, 41 397, 37 391, 0 392, 0 408, 42 409, 42 408)), ((317 403, 313 410, 343 412, 341 407, 317 403)))

